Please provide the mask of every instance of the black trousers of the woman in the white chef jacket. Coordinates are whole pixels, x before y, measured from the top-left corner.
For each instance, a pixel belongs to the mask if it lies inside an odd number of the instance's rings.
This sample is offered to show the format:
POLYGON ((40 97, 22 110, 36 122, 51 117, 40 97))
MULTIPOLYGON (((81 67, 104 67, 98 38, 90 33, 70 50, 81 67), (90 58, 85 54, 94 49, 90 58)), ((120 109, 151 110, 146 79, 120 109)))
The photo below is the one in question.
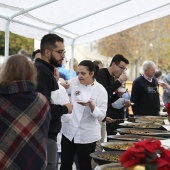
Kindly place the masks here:
POLYGON ((64 135, 61 140, 61 167, 60 170, 72 170, 73 158, 77 154, 80 170, 92 170, 91 153, 95 151, 96 142, 76 144, 69 141, 64 135))

